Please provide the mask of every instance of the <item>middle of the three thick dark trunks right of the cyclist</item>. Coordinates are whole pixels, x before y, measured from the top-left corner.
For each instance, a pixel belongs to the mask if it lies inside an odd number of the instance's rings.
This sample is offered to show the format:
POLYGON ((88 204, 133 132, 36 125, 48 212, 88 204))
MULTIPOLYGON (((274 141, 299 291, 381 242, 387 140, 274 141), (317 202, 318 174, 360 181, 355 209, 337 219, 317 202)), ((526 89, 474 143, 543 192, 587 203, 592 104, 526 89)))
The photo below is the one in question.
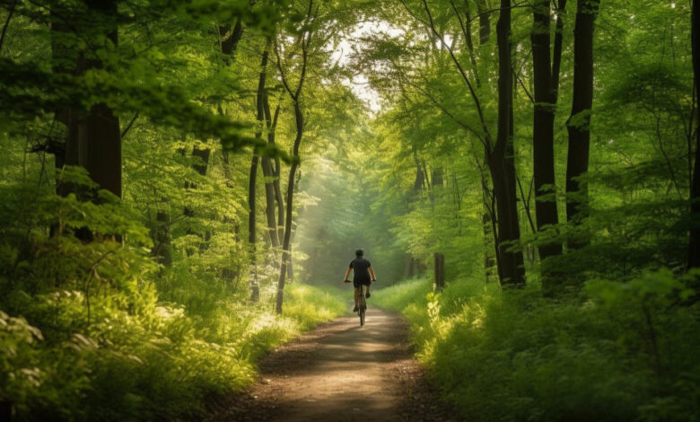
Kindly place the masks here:
MULTIPOLYGON (((554 124, 556 97, 550 59, 549 0, 537 0, 533 6, 531 33, 535 110, 532 121, 532 156, 535 179, 537 229, 559 224, 556 210, 554 124)), ((562 253, 561 243, 538 247, 539 257, 547 259, 562 253)))

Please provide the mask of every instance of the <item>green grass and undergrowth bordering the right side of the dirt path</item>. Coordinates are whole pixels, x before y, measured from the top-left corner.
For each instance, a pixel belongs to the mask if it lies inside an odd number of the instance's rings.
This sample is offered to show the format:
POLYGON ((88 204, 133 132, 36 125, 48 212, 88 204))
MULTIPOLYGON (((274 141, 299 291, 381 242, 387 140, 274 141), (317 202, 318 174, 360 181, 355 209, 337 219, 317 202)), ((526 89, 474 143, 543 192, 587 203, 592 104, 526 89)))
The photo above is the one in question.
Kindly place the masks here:
POLYGON ((472 421, 689 421, 700 418, 700 307, 668 270, 589 281, 552 301, 455 280, 377 291, 412 324, 417 356, 472 421))

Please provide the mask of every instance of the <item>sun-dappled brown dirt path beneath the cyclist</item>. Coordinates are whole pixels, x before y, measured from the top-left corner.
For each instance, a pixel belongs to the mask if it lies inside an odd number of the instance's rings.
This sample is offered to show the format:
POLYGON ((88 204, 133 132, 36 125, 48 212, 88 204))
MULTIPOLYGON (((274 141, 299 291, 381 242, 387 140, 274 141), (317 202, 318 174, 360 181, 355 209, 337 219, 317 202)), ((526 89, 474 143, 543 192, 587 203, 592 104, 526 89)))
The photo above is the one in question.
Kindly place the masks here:
POLYGON ((260 362, 259 381, 211 421, 456 421, 424 381, 407 323, 370 309, 320 326, 260 362))

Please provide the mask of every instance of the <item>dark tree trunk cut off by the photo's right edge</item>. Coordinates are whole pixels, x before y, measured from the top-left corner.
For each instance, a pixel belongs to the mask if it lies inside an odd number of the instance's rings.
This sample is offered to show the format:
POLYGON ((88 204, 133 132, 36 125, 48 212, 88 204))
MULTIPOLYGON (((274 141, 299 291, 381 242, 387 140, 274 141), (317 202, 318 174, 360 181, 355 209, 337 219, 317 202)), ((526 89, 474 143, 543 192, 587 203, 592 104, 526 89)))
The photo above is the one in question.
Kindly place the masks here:
MULTIPOLYGON (((697 21, 700 20, 700 2, 693 0, 693 13, 691 17, 691 43, 693 49, 693 75, 696 85, 696 99, 700 101, 700 46, 698 45, 697 21)), ((696 101, 696 104, 698 103, 696 101)), ((700 107, 696 109, 696 163, 693 168, 693 182, 690 192, 691 228, 690 242, 688 244, 687 266, 688 268, 700 267, 700 107)))

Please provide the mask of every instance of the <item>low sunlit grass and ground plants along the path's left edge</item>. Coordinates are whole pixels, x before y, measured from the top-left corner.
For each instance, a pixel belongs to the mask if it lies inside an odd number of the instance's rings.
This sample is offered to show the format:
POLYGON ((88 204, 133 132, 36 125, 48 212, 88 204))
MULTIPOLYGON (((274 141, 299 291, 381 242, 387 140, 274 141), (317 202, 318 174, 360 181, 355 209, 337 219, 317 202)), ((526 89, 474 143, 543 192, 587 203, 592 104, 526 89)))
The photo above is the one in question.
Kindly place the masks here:
POLYGON ((337 291, 302 284, 287 286, 282 316, 233 300, 188 314, 148 291, 129 295, 130 308, 94 299, 78 325, 79 292, 13 297, 25 312, 0 312, 0 402, 17 420, 196 417, 207 395, 252 382, 267 350, 346 311, 337 291))

